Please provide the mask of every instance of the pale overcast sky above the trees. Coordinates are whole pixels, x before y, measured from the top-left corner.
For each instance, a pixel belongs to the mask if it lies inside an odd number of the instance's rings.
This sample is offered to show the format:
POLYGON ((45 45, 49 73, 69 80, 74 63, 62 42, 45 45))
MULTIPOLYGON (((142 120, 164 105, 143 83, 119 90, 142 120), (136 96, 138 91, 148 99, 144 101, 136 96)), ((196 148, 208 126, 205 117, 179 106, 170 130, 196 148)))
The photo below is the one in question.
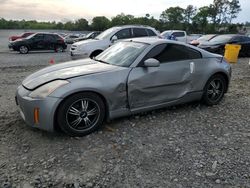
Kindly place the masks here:
MULTIPOLYGON (((159 18, 171 6, 209 5, 213 0, 0 0, 0 17, 39 21, 68 21, 95 16, 111 18, 120 13, 159 18)), ((250 21, 250 0, 240 0, 242 11, 234 22, 250 21)))

